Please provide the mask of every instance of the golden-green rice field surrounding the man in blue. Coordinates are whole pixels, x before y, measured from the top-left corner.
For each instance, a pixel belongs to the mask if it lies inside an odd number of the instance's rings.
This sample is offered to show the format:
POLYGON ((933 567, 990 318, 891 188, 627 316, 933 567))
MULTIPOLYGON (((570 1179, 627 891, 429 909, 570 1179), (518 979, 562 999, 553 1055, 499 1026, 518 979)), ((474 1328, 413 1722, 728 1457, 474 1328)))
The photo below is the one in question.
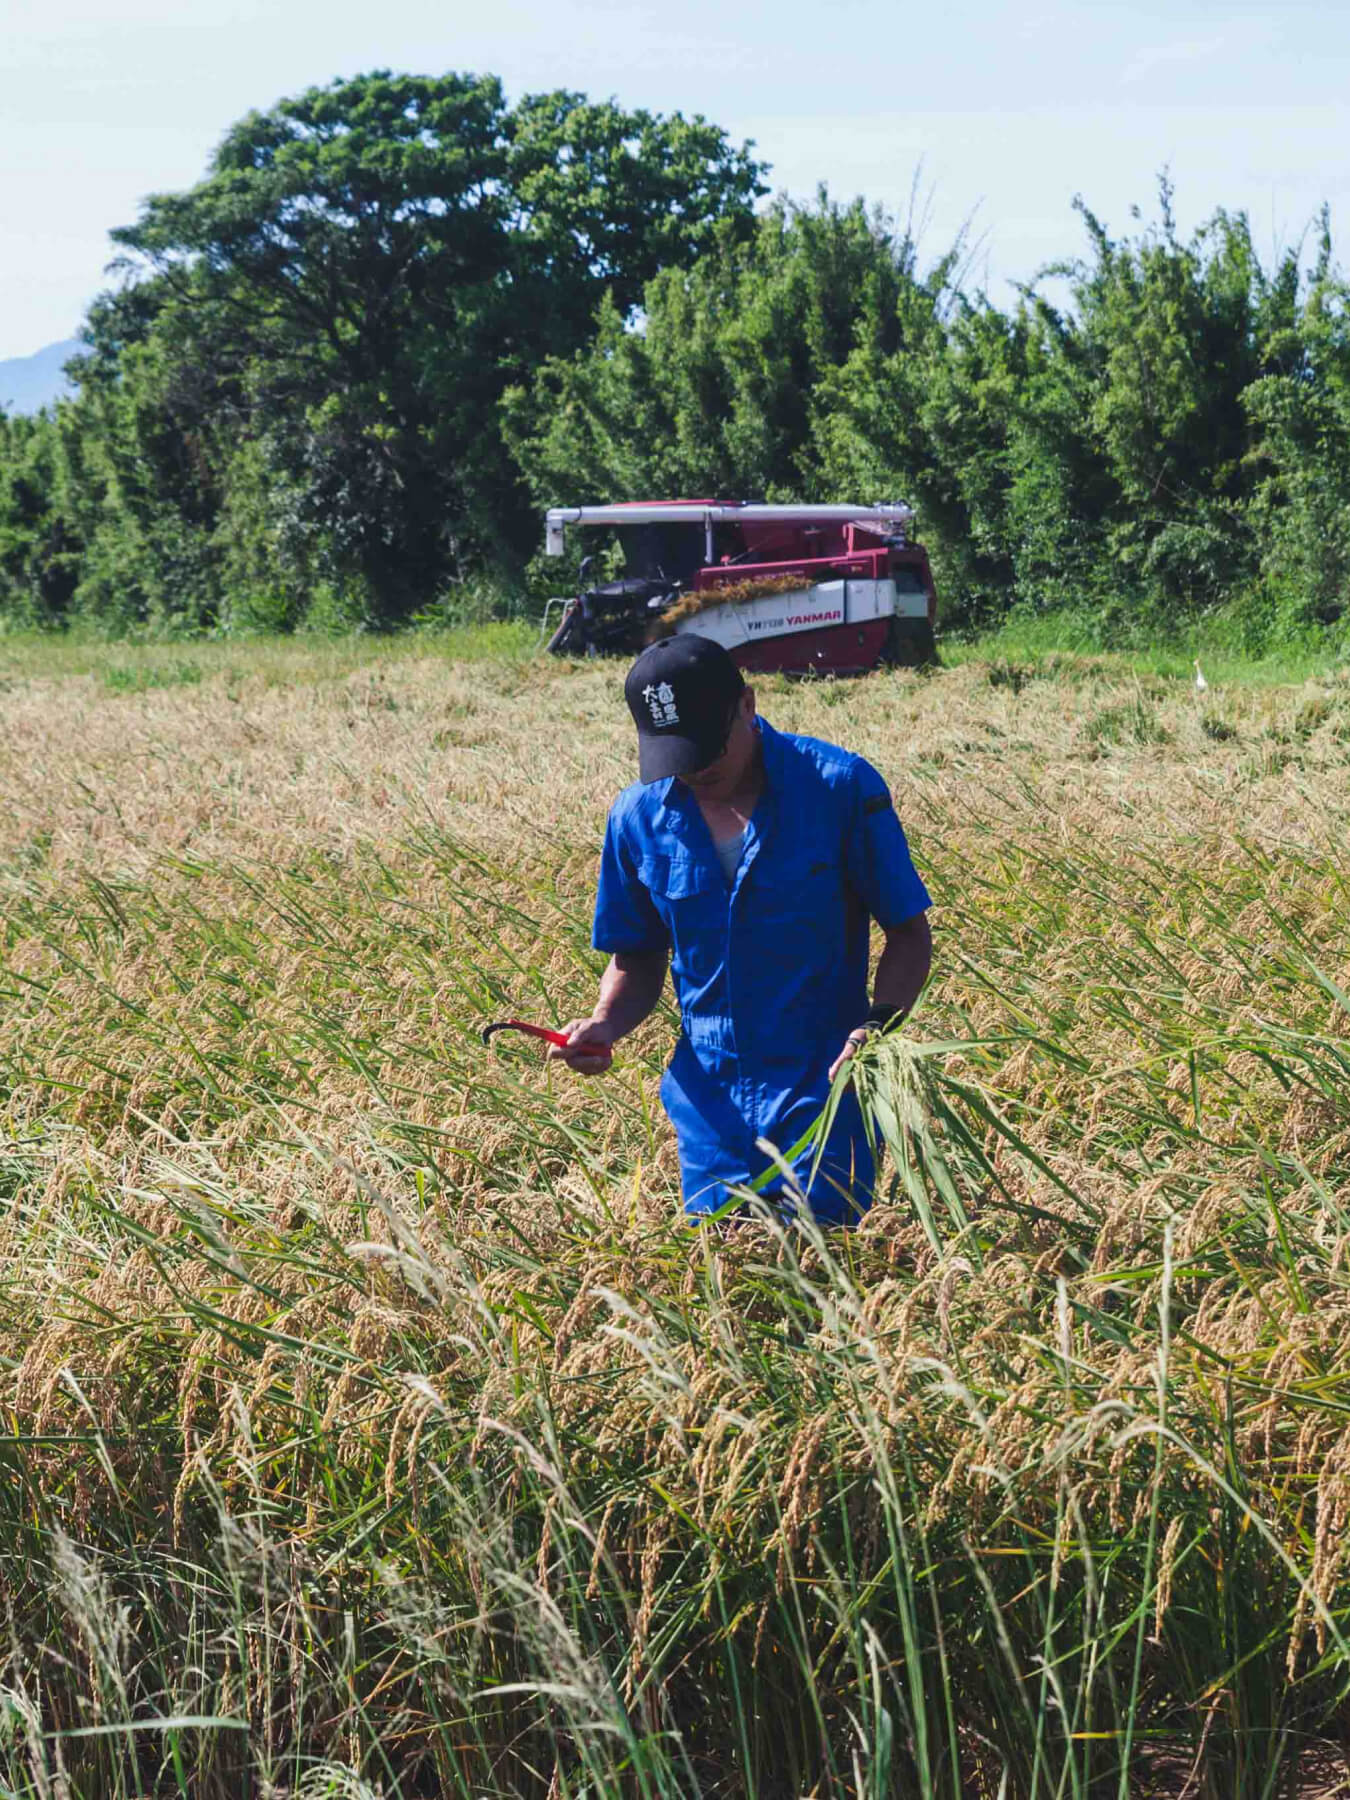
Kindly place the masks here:
POLYGON ((848 1237, 581 1084, 621 670, 0 639, 0 1793, 1350 1793, 1350 679, 767 680, 934 979, 848 1237))

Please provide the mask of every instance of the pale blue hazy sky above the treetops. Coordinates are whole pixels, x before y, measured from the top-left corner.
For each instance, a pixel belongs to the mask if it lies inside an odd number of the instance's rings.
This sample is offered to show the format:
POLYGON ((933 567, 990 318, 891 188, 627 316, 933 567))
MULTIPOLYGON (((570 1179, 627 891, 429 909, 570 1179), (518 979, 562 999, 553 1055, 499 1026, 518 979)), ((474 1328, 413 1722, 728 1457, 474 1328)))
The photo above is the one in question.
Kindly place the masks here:
POLYGON ((968 227, 1004 302, 1082 252, 1075 194, 1138 229, 1163 166, 1184 229, 1242 209, 1269 256, 1325 200, 1350 243, 1350 0, 0 0, 0 358, 76 333, 108 230, 234 119, 369 68, 700 112, 902 218, 918 171, 923 252, 968 227))

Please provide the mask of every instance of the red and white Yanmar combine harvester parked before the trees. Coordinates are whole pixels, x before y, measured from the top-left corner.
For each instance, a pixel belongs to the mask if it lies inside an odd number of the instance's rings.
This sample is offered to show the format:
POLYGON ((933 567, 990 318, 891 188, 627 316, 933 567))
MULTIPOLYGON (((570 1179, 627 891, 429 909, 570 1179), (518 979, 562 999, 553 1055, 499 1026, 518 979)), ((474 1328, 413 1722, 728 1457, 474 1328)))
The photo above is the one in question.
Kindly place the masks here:
POLYGON ((929 662, 938 598, 907 506, 760 506, 657 500, 554 506, 547 553, 569 527, 612 531, 623 576, 551 599, 554 655, 635 655, 670 632, 725 644, 747 671, 860 675, 929 662))

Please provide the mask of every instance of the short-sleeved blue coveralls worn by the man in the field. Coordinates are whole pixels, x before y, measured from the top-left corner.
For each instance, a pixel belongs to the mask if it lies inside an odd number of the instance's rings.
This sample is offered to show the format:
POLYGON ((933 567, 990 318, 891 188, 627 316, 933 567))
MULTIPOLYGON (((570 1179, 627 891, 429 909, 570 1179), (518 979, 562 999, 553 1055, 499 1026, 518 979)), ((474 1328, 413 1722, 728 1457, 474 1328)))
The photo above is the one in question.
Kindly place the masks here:
MULTIPOLYGON (((765 785, 727 887, 695 796, 634 783, 610 808, 592 943, 670 949, 680 1040, 661 1100, 680 1150, 684 1208, 716 1211, 819 1116, 828 1069, 868 1012, 868 920, 902 925, 931 905, 886 781, 860 756, 758 720, 765 785)), ((824 1224, 868 1210, 875 1168, 850 1089, 812 1179, 824 1224)), ((783 1197, 783 1181, 765 1183, 783 1197)))

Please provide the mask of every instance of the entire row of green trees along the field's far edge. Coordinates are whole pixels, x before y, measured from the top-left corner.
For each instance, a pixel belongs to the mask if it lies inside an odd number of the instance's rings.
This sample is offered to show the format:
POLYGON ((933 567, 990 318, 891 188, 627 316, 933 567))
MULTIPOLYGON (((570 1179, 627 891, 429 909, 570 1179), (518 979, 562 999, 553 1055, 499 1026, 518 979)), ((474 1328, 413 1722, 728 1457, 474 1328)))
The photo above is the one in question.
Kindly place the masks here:
POLYGON ((0 416, 0 623, 394 626, 538 594, 544 506, 907 499, 949 625, 1350 619, 1323 214, 1112 236, 994 304, 704 119, 373 74, 239 121, 117 232, 77 391, 0 416))

